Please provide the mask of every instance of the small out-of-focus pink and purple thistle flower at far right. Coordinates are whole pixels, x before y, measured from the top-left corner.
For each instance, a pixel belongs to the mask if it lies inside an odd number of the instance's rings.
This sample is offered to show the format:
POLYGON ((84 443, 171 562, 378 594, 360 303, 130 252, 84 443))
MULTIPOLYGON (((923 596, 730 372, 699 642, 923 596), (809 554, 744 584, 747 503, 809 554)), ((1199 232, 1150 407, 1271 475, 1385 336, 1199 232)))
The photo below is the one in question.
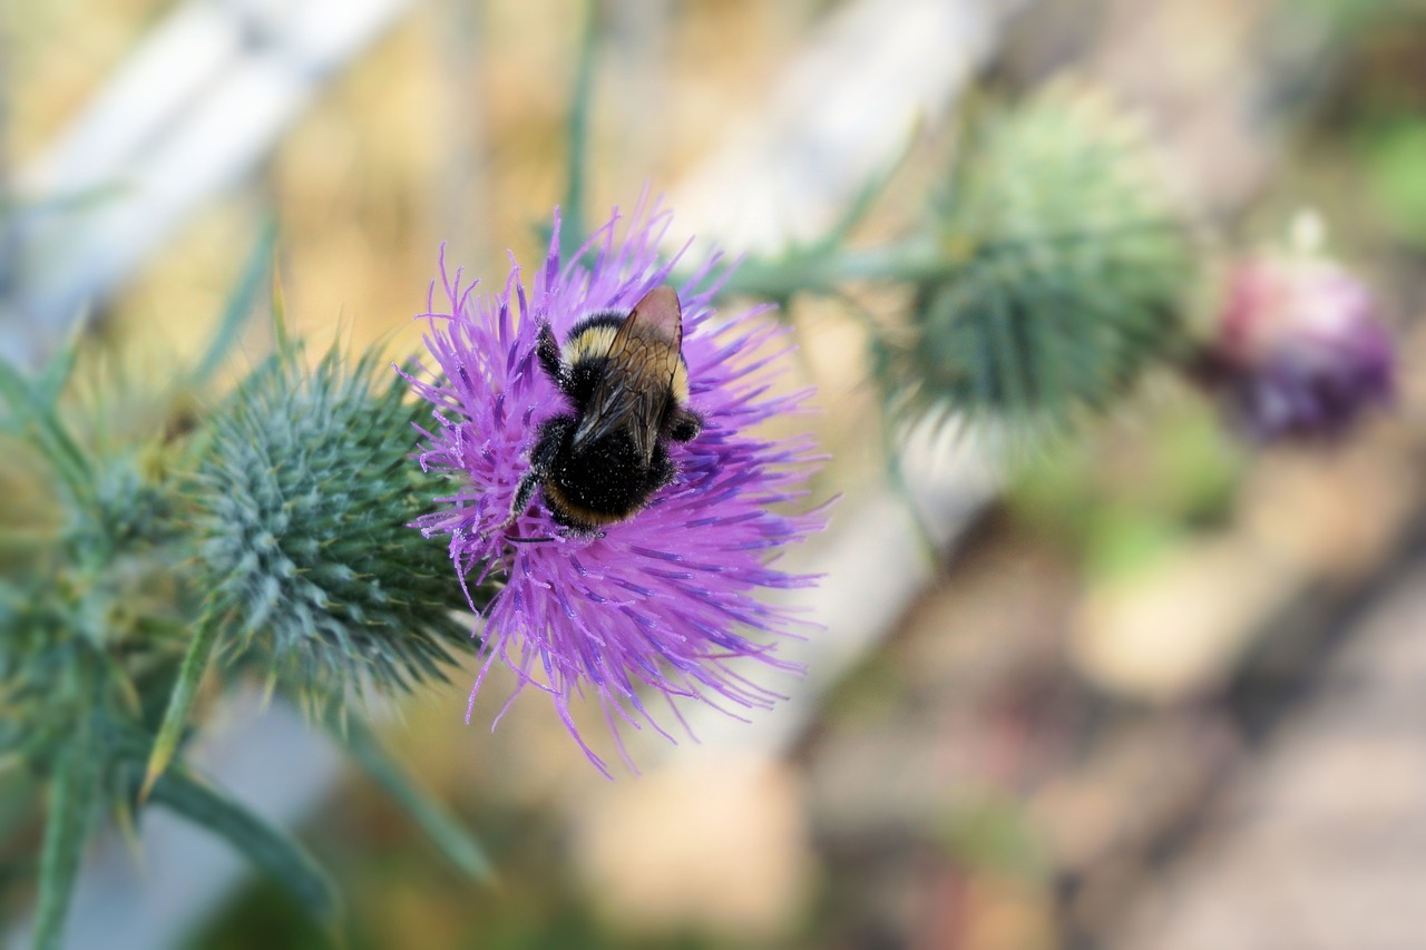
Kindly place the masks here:
POLYGON ((1196 365, 1238 425, 1263 442, 1339 435, 1393 392, 1395 351, 1375 297, 1298 245, 1232 270, 1196 365))

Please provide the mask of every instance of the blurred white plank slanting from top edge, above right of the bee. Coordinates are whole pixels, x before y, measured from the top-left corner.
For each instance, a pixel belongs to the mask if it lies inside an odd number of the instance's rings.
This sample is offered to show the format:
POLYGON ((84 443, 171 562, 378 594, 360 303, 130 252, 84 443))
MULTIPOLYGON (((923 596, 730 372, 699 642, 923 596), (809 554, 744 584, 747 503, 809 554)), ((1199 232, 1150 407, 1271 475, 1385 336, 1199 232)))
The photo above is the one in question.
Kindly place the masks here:
POLYGON ((672 195, 679 230, 730 251, 819 237, 945 114, 1025 0, 863 0, 827 19, 724 147, 672 195))

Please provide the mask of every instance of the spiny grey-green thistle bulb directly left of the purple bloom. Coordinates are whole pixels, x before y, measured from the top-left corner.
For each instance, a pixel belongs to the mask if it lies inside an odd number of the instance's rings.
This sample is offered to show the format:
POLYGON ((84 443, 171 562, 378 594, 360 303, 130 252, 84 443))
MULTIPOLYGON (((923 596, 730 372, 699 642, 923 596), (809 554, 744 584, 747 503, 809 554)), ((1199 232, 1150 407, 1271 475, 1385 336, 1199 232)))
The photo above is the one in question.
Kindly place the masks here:
POLYGON ((274 357, 217 411, 197 479, 208 618, 308 698, 441 678, 469 643, 445 552, 406 528, 438 491, 408 458, 416 408, 376 365, 274 357))

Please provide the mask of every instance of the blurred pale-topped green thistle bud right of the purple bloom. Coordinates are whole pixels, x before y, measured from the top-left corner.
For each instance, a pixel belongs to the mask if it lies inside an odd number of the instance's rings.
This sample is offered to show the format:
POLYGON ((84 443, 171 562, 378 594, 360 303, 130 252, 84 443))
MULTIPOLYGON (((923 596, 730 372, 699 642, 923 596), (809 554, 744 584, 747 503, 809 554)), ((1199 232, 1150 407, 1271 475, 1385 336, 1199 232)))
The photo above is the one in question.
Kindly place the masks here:
POLYGON ((903 408, 1062 424, 1178 355, 1191 242, 1142 134, 1104 97, 1054 84, 987 124, 934 211, 944 267, 887 354, 903 408))

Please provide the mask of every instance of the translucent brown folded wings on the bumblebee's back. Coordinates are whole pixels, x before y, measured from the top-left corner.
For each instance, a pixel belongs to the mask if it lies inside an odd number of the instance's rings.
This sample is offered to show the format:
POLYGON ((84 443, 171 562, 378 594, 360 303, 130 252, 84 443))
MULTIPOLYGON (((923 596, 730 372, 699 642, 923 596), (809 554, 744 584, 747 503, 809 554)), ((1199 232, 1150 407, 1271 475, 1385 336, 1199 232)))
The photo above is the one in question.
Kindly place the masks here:
POLYGON ((683 347, 683 310, 672 287, 643 295, 609 344, 609 361, 575 429, 573 448, 623 429, 647 462, 673 392, 683 347))

